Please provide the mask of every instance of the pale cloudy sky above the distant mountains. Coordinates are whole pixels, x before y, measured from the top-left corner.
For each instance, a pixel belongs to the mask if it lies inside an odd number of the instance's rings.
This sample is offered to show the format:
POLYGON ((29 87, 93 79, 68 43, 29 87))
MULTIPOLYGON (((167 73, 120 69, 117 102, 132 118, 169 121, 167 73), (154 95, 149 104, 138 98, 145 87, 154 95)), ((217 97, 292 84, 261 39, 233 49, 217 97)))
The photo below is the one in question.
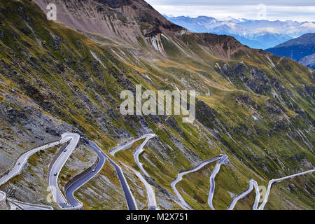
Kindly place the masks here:
POLYGON ((315 21, 314 0, 146 0, 160 13, 214 18, 315 21))

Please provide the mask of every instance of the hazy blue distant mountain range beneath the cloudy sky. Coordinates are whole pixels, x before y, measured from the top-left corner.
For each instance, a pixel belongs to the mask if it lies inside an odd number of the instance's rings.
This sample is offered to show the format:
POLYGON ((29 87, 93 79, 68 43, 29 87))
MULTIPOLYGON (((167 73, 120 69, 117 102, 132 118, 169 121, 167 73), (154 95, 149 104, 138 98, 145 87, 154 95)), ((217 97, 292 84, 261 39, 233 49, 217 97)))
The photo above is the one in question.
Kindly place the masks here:
POLYGON ((225 34, 234 36, 251 48, 267 49, 279 45, 302 34, 314 33, 314 22, 246 20, 225 18, 217 20, 207 16, 190 18, 185 16, 168 17, 174 22, 194 32, 225 34))

